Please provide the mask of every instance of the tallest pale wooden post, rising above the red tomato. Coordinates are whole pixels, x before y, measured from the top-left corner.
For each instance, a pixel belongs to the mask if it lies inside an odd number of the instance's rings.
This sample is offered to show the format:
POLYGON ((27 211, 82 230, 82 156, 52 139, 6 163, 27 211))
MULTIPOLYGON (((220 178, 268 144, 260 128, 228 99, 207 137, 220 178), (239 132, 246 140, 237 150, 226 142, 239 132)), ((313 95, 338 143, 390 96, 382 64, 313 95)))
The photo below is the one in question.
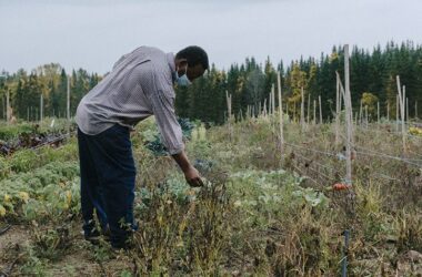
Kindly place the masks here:
POLYGON ((345 111, 346 111, 346 130, 348 130, 348 142, 345 147, 346 153, 346 176, 345 182, 352 184, 352 115, 351 115, 351 95, 350 95, 350 72, 349 72, 349 44, 344 45, 344 86, 345 86, 345 111))

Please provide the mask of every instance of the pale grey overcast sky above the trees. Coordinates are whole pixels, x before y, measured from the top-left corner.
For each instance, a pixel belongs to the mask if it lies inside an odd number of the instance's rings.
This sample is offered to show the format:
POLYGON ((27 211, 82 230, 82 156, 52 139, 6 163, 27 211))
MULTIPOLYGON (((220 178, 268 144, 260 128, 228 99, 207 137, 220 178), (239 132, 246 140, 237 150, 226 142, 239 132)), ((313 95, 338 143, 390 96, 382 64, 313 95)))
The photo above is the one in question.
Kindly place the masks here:
POLYGON ((0 0, 0 70, 57 62, 105 73, 139 45, 197 44, 219 69, 333 44, 422 43, 421 0, 0 0))

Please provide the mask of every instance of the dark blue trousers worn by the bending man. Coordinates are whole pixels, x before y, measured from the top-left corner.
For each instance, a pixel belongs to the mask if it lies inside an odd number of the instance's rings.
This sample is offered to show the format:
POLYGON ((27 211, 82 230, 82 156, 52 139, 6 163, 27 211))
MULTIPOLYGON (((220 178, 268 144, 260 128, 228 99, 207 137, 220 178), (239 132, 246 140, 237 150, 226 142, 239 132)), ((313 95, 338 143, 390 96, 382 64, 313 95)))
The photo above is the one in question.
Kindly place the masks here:
POLYGON ((102 229, 110 228, 112 246, 124 245, 133 220, 135 167, 128 127, 119 124, 98 135, 78 129, 83 230, 92 230, 96 211, 102 229))

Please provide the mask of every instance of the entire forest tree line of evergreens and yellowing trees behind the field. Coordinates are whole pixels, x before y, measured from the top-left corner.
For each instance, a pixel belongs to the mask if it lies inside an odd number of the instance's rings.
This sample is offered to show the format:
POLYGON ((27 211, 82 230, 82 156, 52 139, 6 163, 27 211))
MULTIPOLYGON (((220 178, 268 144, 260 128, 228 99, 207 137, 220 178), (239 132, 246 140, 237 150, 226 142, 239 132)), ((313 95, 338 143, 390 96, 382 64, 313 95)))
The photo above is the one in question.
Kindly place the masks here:
MULTIPOLYGON (((359 111, 361 102, 368 106, 369 116, 376 117, 376 105, 380 103, 381 116, 395 119, 396 83, 400 75, 406 88, 409 115, 415 117, 416 102, 422 100, 422 45, 412 41, 402 43, 389 42, 385 47, 376 45, 371 51, 353 47, 350 60, 351 93, 353 111, 359 111)), ((343 48, 333 47, 331 53, 292 61, 273 63, 267 59, 263 63, 254 58, 247 58, 241 64, 234 63, 228 70, 215 65, 203 78, 189 88, 177 88, 175 109, 181 117, 201 120, 221 124, 227 119, 227 92, 232 98, 232 111, 237 119, 245 115, 248 107, 254 113, 269 103, 272 85, 277 90, 277 75, 281 75, 281 89, 284 112, 299 119, 301 90, 304 90, 305 107, 312 106, 321 96, 323 120, 333 117, 335 110, 336 80, 335 72, 343 76, 343 48), (310 100, 310 105, 308 101, 310 100)), ((10 93, 13 115, 20 119, 37 120, 40 95, 44 100, 46 116, 66 116, 67 72, 60 64, 51 63, 39 66, 30 73, 19 70, 16 73, 2 72, 0 95, 2 105, 0 115, 6 114, 6 92, 10 93)), ((82 96, 89 92, 101 76, 88 73, 83 69, 73 70, 70 74, 70 109, 74 114, 82 96)), ((422 110, 422 106, 421 109, 422 110)), ((311 113, 312 114, 312 113, 311 113)))

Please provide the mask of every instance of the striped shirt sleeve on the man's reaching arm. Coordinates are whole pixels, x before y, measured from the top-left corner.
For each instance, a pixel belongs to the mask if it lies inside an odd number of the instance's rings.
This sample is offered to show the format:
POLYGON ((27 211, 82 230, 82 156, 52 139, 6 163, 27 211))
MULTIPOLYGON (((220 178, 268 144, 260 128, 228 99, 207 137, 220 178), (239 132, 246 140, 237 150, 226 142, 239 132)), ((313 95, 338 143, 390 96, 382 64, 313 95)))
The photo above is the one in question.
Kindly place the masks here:
POLYGON ((150 94, 152 112, 155 116, 161 140, 171 155, 184 150, 183 133, 174 113, 173 91, 158 90, 150 94))

